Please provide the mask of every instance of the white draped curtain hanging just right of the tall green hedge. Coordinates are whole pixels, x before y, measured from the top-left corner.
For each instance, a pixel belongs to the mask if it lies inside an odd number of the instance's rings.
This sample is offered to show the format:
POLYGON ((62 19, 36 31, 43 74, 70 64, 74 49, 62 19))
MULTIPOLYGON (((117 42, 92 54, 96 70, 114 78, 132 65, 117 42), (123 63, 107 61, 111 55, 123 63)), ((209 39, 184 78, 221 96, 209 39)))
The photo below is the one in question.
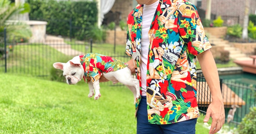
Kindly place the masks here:
POLYGON ((104 15, 107 14, 111 8, 113 7, 115 0, 101 0, 101 18, 100 18, 100 25, 103 22, 104 15))

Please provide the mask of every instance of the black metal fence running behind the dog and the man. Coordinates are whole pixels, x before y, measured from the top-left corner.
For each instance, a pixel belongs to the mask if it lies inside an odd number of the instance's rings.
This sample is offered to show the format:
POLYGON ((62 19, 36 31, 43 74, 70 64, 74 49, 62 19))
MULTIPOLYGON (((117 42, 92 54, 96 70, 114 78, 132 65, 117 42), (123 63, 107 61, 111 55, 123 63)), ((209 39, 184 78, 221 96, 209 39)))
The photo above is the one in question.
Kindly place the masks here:
MULTIPOLYGON (((42 43, 16 43, 0 33, 0 71, 15 74, 28 74, 48 78, 54 62, 67 62, 74 56, 86 53, 101 53, 119 59, 123 62, 130 60, 124 52, 125 45, 70 41, 54 37, 42 43), (113 50, 117 51, 114 52, 113 50)), ((205 113, 212 101, 210 89, 201 72, 197 73, 197 101, 199 109, 205 113)), ((113 85, 112 83, 109 83, 113 85)), ((229 121, 239 124, 249 108, 255 106, 256 87, 228 80, 221 80, 222 96, 224 99, 226 119, 228 111, 236 109, 233 119, 229 121), (237 106, 237 107, 234 107, 237 106)), ((228 120, 228 119, 227 119, 228 120)))

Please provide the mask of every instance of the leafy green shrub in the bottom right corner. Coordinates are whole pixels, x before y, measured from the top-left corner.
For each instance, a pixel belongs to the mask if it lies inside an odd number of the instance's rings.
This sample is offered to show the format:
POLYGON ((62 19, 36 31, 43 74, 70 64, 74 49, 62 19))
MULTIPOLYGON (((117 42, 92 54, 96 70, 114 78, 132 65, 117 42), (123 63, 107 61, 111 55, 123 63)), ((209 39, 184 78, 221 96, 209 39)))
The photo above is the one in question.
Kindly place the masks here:
POLYGON ((250 108, 250 112, 245 115, 239 125, 239 134, 256 134, 256 107, 250 108))

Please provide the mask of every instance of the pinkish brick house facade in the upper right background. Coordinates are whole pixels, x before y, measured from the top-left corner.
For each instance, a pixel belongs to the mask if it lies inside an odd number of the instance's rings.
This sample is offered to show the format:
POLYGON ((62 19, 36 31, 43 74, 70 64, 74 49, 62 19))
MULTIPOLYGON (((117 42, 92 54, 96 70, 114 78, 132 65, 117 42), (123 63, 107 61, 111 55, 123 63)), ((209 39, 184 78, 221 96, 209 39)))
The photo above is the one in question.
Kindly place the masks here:
MULTIPOLYGON (((200 9, 206 10, 206 1, 202 0, 200 9)), ((244 0, 212 0, 211 13, 216 16, 222 16, 224 25, 232 25, 239 23, 243 25, 243 16, 245 12, 244 0), (239 16, 239 19, 238 19, 239 16)), ((250 0, 249 14, 255 14, 256 0, 250 0)))

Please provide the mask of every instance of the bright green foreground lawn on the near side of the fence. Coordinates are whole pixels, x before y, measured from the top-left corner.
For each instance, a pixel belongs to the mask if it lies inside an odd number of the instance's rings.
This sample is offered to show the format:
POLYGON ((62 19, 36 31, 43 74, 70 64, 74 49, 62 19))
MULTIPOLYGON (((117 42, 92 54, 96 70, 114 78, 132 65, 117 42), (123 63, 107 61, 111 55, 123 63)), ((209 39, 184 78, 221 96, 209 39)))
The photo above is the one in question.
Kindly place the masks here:
MULTIPOLYGON (((135 134, 132 92, 101 85, 99 100, 88 85, 0 73, 0 133, 135 134)), ((199 120, 200 121, 200 120, 199 120)), ((202 123, 197 134, 206 134, 202 123)))

